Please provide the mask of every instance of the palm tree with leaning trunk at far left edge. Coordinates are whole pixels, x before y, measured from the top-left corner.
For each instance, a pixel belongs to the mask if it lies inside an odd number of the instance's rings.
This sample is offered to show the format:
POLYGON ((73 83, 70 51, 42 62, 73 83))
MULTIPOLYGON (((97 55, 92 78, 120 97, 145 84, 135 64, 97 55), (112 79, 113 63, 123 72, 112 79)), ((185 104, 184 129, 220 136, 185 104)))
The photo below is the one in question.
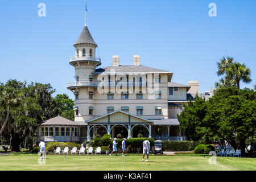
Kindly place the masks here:
POLYGON ((5 121, 3 122, 2 128, 0 130, 0 136, 2 135, 3 130, 5 129, 7 121, 9 119, 10 107, 16 106, 20 100, 21 94, 18 92, 18 90, 11 88, 9 86, 4 88, 3 92, 0 94, 0 104, 6 107, 7 109, 5 121))

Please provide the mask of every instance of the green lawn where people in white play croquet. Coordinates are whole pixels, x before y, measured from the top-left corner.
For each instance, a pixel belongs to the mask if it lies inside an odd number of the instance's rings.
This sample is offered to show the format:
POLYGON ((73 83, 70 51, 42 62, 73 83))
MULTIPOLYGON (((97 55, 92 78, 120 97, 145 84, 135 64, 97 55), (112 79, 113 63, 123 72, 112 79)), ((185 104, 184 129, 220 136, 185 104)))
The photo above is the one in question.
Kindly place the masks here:
POLYGON ((46 164, 38 164, 39 156, 32 154, 0 156, 0 171, 2 170, 256 170, 256 158, 225 158, 217 157, 217 164, 210 165, 208 156, 197 154, 150 155, 150 162, 141 162, 142 155, 127 154, 127 156, 109 155, 47 155, 46 164), (125 169, 121 168, 125 163, 125 169))

